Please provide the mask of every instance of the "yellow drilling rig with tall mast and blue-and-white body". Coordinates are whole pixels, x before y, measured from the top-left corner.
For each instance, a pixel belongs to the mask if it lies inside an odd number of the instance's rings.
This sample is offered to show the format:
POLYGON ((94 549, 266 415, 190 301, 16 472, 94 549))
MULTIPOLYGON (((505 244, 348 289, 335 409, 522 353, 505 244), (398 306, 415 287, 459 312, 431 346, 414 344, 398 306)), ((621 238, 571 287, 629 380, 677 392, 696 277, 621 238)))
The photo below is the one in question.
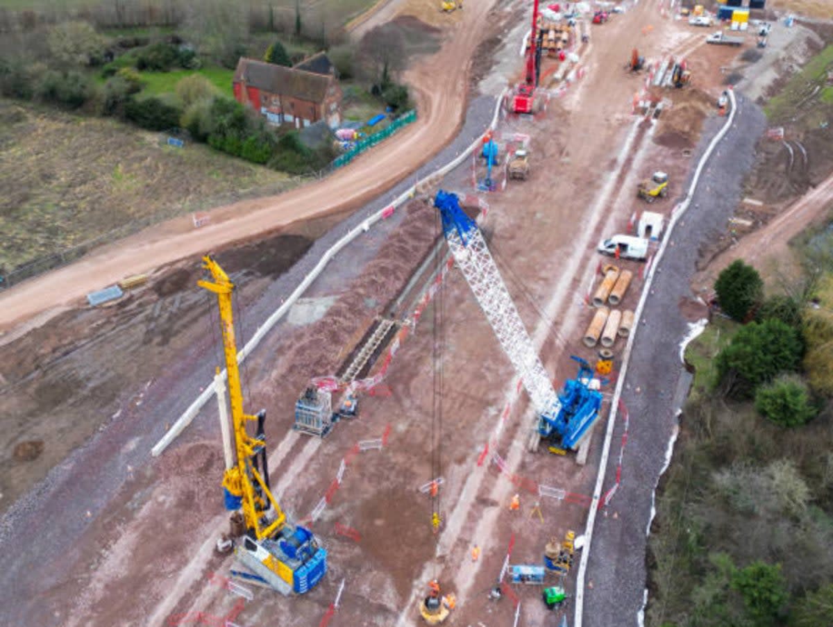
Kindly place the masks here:
POLYGON ((228 434, 228 429, 223 428, 227 454, 222 488, 226 509, 234 512, 232 529, 238 527, 242 532, 242 537, 232 538, 232 542, 237 559, 245 567, 245 570, 232 569, 232 574, 282 594, 304 594, 327 572, 327 551, 312 531, 292 524, 272 496, 263 431, 266 411, 261 410, 254 416, 243 412, 232 312, 234 283, 213 258, 203 257, 202 267, 211 273, 212 280, 199 281, 198 285, 217 294, 220 308, 232 409, 232 433, 228 434), (247 429, 250 423, 257 424, 253 436, 247 429))

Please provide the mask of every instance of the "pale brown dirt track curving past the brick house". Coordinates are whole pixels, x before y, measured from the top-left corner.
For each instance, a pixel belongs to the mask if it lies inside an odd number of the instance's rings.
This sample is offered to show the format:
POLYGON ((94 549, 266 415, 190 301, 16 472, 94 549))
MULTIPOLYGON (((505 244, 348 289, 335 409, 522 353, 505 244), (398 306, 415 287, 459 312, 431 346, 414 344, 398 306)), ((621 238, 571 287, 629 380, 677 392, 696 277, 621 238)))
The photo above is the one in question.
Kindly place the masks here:
MULTIPOLYGON (((395 139, 317 183, 277 197, 235 203, 212 212, 212 223, 193 228, 182 217, 101 248, 66 268, 0 295, 0 332, 47 310, 66 307, 93 290, 135 273, 245 241, 297 220, 357 208, 391 188, 455 136, 466 105, 471 55, 481 42, 496 0, 466 7, 439 53, 406 74, 416 93, 419 118, 395 139), (444 80, 437 81, 442 76, 444 80)), ((375 21, 375 20, 374 20, 375 21)), ((42 323, 45 317, 39 317, 42 323)))

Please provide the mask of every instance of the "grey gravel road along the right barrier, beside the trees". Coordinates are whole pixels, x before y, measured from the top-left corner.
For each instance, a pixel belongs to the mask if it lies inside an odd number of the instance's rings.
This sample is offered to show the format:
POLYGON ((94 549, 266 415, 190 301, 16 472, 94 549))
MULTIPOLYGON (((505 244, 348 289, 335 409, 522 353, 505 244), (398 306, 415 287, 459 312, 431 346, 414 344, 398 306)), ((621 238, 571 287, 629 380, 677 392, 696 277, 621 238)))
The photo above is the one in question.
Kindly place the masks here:
MULTIPOLYGON (((701 245, 725 230, 741 199, 741 184, 754 162, 756 140, 766 128, 761 109, 737 96, 735 122, 712 155, 691 206, 671 233, 669 247, 656 268, 631 354, 621 397, 631 416, 621 485, 607 508, 608 515, 596 521, 587 570, 585 617, 594 627, 639 624, 646 589, 646 529, 682 402, 682 395, 675 391, 685 372, 679 344, 688 322, 679 313, 679 303, 691 297, 689 283, 701 245), (676 315, 670 314, 675 311, 676 315)), ((724 118, 706 120, 698 160, 723 123, 724 118)), ((623 426, 620 421, 613 435, 605 489, 614 484, 623 426)))

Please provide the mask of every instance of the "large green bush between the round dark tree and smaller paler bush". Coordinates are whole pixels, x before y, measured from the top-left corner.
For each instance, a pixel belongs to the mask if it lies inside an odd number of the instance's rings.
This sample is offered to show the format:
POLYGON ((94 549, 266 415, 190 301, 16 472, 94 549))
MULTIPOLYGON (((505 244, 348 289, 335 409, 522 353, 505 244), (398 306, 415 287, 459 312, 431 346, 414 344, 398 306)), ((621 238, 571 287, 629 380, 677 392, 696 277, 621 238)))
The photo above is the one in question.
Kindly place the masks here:
MULTIPOLYGON (((740 329, 717 354, 717 372, 724 381, 740 377, 746 384, 741 386, 740 395, 750 396, 751 389, 771 381, 776 374, 797 369, 803 352, 797 329, 776 319, 753 322, 740 329)), ((728 381, 730 390, 735 383, 728 381)))

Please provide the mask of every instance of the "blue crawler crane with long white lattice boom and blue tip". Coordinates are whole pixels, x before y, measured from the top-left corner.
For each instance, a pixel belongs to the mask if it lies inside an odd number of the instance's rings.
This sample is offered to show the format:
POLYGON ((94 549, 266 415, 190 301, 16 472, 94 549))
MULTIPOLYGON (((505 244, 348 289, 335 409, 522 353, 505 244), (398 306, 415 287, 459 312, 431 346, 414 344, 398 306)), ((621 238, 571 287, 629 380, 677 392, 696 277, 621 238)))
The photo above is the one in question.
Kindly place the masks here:
POLYGON ((581 364, 578 377, 566 382, 561 395, 556 394, 477 224, 463 212, 453 193, 438 191, 434 206, 440 211, 446 243, 457 266, 537 411, 530 449, 536 450, 541 438, 551 442, 554 453, 576 449, 601 409, 601 393, 591 389, 598 387, 592 369, 583 359, 572 358, 581 364))

